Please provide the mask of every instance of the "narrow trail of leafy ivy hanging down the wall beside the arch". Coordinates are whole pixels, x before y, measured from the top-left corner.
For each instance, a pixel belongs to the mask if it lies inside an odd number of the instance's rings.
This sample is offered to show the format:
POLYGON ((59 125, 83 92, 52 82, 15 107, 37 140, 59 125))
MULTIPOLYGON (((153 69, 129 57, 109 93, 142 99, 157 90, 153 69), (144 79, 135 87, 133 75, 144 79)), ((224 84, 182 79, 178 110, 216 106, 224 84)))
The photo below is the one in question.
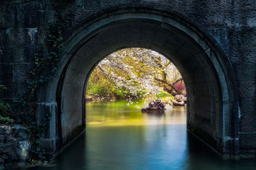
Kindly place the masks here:
MULTIPOLYGON (((47 31, 44 36, 44 44, 37 47, 35 53, 35 68, 30 72, 31 80, 28 81, 29 93, 26 98, 31 103, 32 108, 36 108, 37 92, 41 85, 51 80, 56 74, 61 53, 65 50, 63 46, 63 33, 74 18, 74 9, 68 8, 68 0, 55 0, 54 19, 47 25, 47 31)), ((24 103, 24 101, 22 102, 24 103)), ((29 104, 30 105, 30 104, 29 104)), ((36 109, 35 109, 36 110, 36 109)), ((33 115, 36 115, 34 113, 33 115)), ((29 127, 31 131, 31 157, 33 159, 45 159, 45 150, 40 147, 40 139, 44 136, 47 129, 47 122, 51 119, 51 113, 45 113, 45 117, 38 124, 36 117, 29 127)))

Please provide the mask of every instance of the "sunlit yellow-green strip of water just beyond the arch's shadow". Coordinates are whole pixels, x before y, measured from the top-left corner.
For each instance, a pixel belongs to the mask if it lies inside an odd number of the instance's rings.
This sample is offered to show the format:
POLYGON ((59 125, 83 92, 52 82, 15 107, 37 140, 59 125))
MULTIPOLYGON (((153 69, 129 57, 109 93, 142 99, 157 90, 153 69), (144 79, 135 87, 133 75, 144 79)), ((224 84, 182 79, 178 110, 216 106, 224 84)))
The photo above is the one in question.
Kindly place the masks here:
POLYGON ((126 101, 87 103, 87 127, 136 126, 136 125, 174 125, 186 124, 186 107, 166 106, 164 113, 142 113, 147 104, 142 101, 127 106, 126 101))

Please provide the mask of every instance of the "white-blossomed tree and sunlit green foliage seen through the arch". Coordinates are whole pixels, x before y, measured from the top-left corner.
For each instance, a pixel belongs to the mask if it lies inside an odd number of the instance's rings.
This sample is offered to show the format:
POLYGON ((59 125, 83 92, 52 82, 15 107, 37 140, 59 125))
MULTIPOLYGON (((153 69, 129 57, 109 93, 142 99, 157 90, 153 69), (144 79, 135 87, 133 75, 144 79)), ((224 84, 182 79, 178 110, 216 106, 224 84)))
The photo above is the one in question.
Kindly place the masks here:
POLYGON ((125 48, 102 60, 88 80, 86 93, 98 96, 143 98, 185 93, 172 83, 182 76, 170 60, 145 48, 125 48))

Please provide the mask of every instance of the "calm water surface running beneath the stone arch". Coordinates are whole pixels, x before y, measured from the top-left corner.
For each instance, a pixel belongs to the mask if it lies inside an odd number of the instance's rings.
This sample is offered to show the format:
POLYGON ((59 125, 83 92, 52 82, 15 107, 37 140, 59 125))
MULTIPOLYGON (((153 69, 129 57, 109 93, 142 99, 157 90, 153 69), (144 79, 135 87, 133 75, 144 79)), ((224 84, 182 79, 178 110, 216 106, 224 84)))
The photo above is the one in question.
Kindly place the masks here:
POLYGON ((186 132, 186 108, 141 113, 143 103, 86 104, 86 132, 54 163, 29 169, 256 169, 228 161, 186 132))

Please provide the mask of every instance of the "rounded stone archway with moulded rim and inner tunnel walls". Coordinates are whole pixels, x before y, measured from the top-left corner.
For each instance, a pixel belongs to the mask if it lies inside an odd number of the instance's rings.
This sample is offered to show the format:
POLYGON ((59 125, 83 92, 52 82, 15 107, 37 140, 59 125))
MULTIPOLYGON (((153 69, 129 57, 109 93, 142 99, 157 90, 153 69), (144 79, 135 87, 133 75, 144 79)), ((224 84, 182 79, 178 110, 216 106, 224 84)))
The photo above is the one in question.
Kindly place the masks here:
POLYGON ((84 89, 92 69, 110 53, 141 47, 162 53, 179 68, 188 90, 188 129, 218 152, 236 154, 238 125, 232 67, 218 44, 186 20, 157 10, 102 13, 66 39, 67 51, 44 99, 52 119, 44 145, 54 153, 85 127, 84 89))

